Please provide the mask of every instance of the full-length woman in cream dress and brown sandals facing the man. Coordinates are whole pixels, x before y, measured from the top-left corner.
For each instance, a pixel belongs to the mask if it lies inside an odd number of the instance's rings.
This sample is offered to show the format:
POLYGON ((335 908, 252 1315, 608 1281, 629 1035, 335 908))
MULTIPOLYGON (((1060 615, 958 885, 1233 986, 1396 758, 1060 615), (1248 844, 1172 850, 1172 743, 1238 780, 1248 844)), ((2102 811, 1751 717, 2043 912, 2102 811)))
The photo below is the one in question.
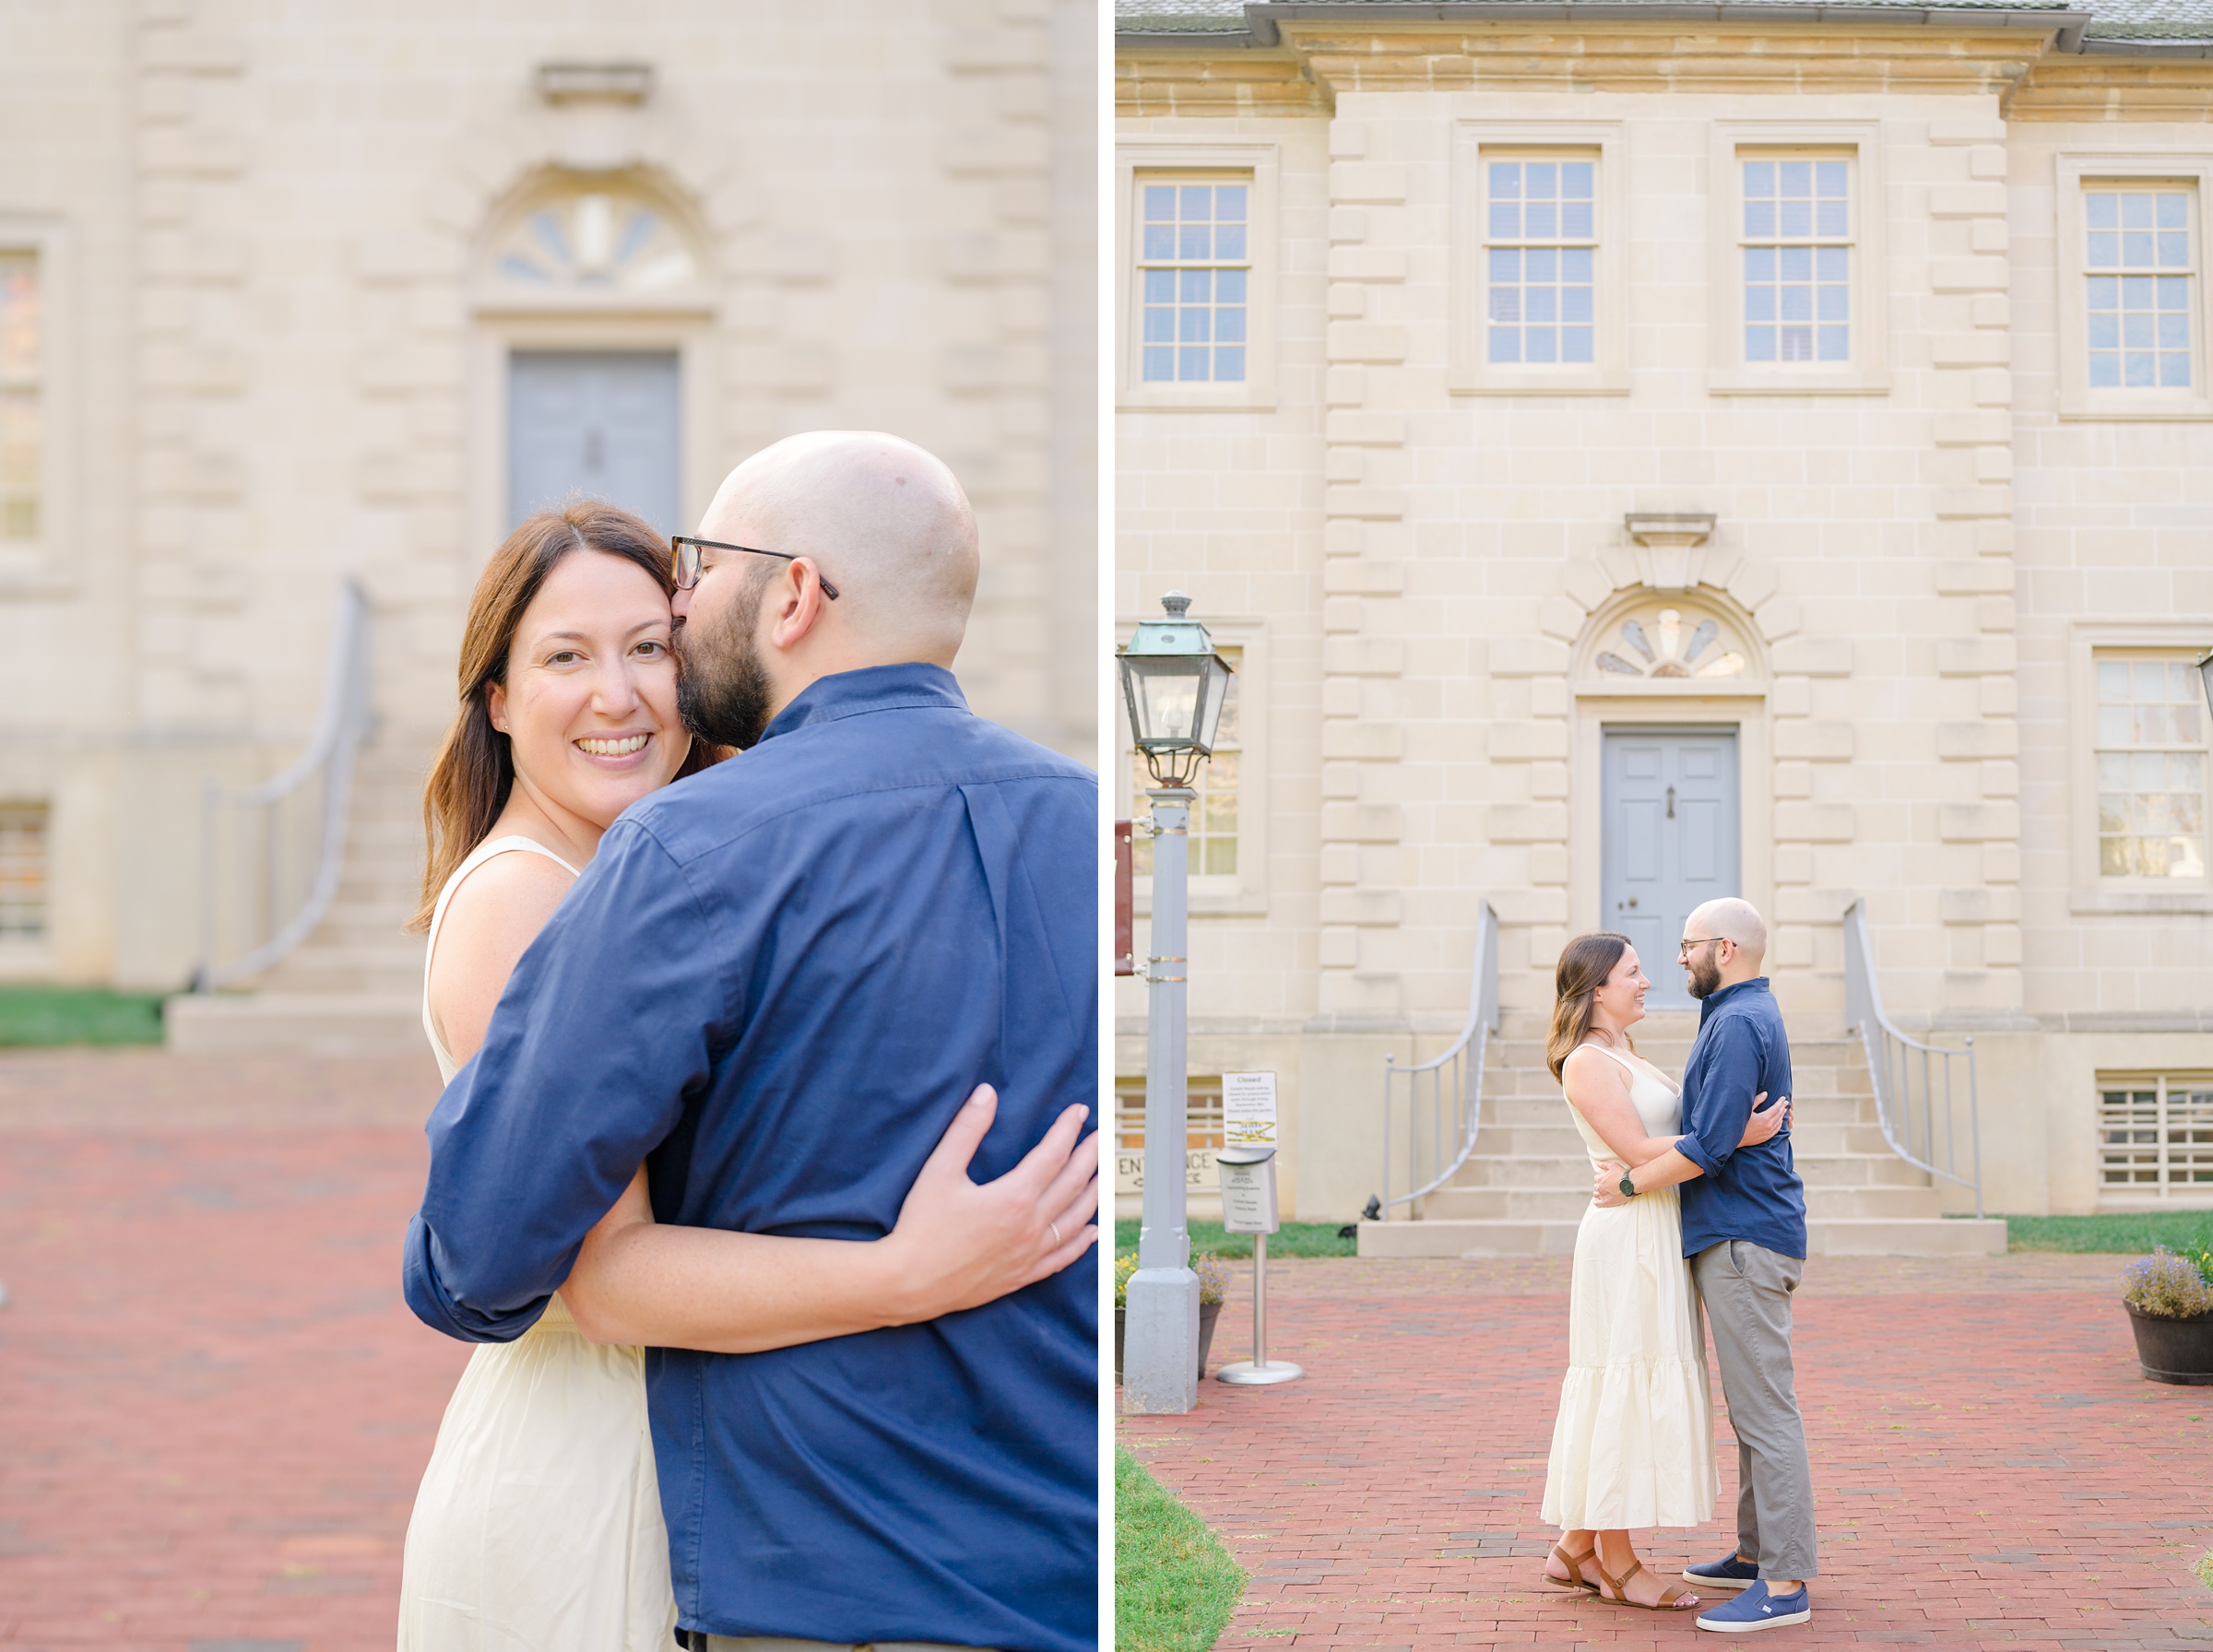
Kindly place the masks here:
MULTIPOLYGON (((1635 947, 1604 931, 1578 935, 1560 953, 1554 991, 1545 1057, 1591 1165, 1658 1159, 1677 1141, 1682 1092, 1629 1037, 1651 991, 1635 947)), ((1788 1099, 1764 1112, 1755 1104, 1744 1143, 1773 1137, 1786 1115, 1788 1099)), ((1545 1579, 1620 1606, 1686 1612, 1697 1597, 1662 1588, 1631 1544, 1633 1528, 1713 1519, 1706 1327, 1673 1188, 1582 1212, 1567 1303, 1567 1378, 1545 1468, 1545 1519, 1560 1526, 1560 1541, 1545 1579), (1587 1579, 1585 1566, 1598 1577, 1587 1579)))

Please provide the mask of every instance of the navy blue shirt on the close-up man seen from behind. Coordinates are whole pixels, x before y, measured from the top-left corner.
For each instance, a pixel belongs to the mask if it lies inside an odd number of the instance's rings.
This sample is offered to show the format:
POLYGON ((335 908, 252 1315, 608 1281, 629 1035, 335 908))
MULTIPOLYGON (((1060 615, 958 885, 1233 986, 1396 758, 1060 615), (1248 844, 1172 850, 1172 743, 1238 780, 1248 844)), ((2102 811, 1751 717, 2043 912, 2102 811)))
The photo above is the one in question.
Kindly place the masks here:
MULTIPOLYGON (((664 1223, 879 1238, 978 1081, 978 1181, 1095 1123, 1098 843, 1098 776, 936 666, 821 679, 633 805, 432 1112, 409 1307, 520 1336, 640 1161, 664 1223)), ((684 1628, 1089 1652, 1095 1289, 1084 1258, 927 1325, 648 1349, 684 1628)))

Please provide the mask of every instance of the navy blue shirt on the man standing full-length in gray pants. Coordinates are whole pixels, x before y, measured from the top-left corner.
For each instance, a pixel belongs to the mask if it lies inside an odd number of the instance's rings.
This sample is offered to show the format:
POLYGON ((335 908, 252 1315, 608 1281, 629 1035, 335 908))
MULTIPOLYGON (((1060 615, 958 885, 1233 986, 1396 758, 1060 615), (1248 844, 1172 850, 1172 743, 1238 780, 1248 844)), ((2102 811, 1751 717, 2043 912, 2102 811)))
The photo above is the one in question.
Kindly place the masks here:
POLYGON ((1790 1037, 1766 975, 1724 986, 1697 1011, 1675 1150, 1706 1174, 1682 1183, 1684 1256, 1724 1238, 1806 1256, 1806 1188, 1790 1161, 1790 1132, 1737 1146, 1762 1090, 1768 1106, 1790 1095, 1790 1037))

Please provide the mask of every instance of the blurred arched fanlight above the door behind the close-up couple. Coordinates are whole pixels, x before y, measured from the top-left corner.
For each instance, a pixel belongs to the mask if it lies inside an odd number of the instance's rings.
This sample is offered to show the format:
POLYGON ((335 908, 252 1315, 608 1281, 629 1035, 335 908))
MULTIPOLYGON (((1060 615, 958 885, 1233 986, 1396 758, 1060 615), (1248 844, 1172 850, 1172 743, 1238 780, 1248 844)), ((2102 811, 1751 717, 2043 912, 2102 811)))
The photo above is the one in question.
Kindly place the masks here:
POLYGON ((544 296, 653 294, 697 281, 702 259, 673 215, 624 186, 540 195, 493 241, 491 274, 544 296))

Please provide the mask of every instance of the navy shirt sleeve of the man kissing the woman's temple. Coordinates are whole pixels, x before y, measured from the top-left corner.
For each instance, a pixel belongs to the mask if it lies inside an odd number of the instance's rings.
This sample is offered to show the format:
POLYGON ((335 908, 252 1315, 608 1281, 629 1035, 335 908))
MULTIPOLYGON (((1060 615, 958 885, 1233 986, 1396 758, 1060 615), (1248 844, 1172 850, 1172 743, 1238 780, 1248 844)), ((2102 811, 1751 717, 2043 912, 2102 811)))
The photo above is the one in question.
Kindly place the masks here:
POLYGON ((432 1110, 403 1289, 432 1329, 511 1342, 675 1128, 730 1017, 682 867, 617 820, 522 953, 485 1046, 432 1110))

